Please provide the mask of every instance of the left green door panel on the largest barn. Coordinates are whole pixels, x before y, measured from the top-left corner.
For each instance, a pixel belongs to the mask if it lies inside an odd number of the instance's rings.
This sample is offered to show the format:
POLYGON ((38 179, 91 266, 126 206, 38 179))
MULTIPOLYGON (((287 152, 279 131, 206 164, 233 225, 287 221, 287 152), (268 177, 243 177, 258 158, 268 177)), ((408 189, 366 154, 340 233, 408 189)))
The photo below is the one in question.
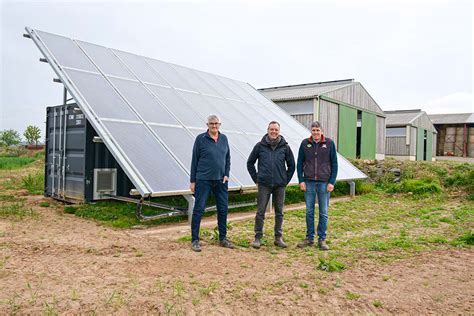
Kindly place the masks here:
POLYGON ((337 151, 346 158, 355 158, 357 142, 357 110, 339 106, 337 151))

